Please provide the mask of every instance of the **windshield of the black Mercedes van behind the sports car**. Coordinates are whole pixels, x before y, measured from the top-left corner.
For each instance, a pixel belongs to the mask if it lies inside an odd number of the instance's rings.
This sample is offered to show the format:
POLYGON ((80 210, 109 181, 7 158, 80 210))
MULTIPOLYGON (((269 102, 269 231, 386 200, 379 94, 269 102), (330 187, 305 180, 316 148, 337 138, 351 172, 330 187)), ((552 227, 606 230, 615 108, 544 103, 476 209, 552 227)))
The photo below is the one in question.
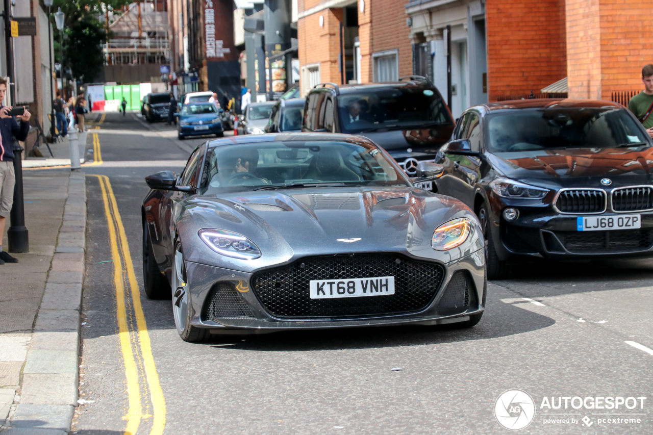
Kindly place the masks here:
POLYGON ((453 124, 438 92, 416 86, 343 94, 338 109, 343 133, 453 124))

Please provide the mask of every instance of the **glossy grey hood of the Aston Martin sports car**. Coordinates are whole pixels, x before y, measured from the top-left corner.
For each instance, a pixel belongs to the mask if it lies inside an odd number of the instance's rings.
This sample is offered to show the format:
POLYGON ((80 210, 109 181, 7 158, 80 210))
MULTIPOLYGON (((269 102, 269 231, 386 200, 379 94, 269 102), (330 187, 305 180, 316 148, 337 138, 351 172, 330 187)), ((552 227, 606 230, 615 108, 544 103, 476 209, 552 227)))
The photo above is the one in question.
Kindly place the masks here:
POLYGON ((483 248, 471 210, 451 197, 414 187, 366 187, 247 191, 195 197, 178 203, 178 231, 189 261, 251 271, 308 255, 395 251, 448 263, 483 248), (385 202, 387 200, 388 202, 385 202), (430 246, 434 230, 451 219, 469 217, 467 242, 449 251, 430 246), (199 240, 202 228, 242 234, 261 258, 223 257, 199 240), (187 244, 185 240, 196 240, 187 244))

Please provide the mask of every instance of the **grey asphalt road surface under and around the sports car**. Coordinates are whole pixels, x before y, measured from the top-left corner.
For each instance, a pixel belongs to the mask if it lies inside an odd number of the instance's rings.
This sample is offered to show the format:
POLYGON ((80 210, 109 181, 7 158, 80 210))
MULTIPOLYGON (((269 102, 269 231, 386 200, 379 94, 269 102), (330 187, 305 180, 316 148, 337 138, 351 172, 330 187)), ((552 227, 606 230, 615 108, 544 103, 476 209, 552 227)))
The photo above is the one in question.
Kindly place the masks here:
POLYGON ((523 266, 511 280, 489 283, 485 315, 472 329, 283 332, 188 344, 174 329, 169 300, 126 291, 123 319, 131 332, 121 334, 116 289, 129 289, 130 280, 125 272, 116 281, 116 263, 129 270, 129 261, 113 255, 110 233, 119 220, 142 285, 144 176, 179 172, 203 139, 178 141, 163 123, 147 126, 129 114, 108 114, 99 127, 102 163, 84 167, 80 398, 89 402, 76 412, 78 434, 118 435, 128 425, 138 434, 507 434, 495 402, 509 389, 534 400, 535 417, 519 433, 653 432, 650 260, 523 266), (93 174, 108 176, 108 184, 93 174), (105 208, 109 186, 120 219, 105 208), (596 397, 623 397, 637 406, 575 409, 576 396, 590 397, 590 405, 596 397), (556 406, 563 397, 562 408, 542 407, 545 397, 556 406), (617 413, 639 415, 597 415, 617 413), (624 418, 629 423, 607 420, 624 418))

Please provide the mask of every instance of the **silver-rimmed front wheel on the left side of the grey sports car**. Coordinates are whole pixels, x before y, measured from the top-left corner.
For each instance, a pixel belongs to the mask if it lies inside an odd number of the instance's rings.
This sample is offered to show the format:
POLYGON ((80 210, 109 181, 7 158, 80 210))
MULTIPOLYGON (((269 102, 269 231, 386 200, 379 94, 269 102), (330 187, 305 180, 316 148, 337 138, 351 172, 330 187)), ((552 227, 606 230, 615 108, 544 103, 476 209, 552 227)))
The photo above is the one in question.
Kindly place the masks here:
POLYGON ((208 329, 200 329, 191 325, 193 310, 190 305, 186 266, 183 263, 183 249, 179 240, 174 243, 172 259, 172 314, 174 325, 179 336, 185 342, 203 342, 210 338, 208 329))

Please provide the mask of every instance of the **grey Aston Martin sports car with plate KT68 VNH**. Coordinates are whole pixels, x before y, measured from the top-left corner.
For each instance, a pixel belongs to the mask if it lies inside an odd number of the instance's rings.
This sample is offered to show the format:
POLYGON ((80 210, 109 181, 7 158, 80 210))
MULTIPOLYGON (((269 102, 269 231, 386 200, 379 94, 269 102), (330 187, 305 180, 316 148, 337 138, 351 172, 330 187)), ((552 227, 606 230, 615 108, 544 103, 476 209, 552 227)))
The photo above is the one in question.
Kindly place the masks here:
POLYGON ((413 186, 367 138, 286 133, 212 140, 182 174, 146 178, 146 294, 170 298, 183 340, 418 323, 470 327, 485 308, 485 241, 471 210, 413 186))

